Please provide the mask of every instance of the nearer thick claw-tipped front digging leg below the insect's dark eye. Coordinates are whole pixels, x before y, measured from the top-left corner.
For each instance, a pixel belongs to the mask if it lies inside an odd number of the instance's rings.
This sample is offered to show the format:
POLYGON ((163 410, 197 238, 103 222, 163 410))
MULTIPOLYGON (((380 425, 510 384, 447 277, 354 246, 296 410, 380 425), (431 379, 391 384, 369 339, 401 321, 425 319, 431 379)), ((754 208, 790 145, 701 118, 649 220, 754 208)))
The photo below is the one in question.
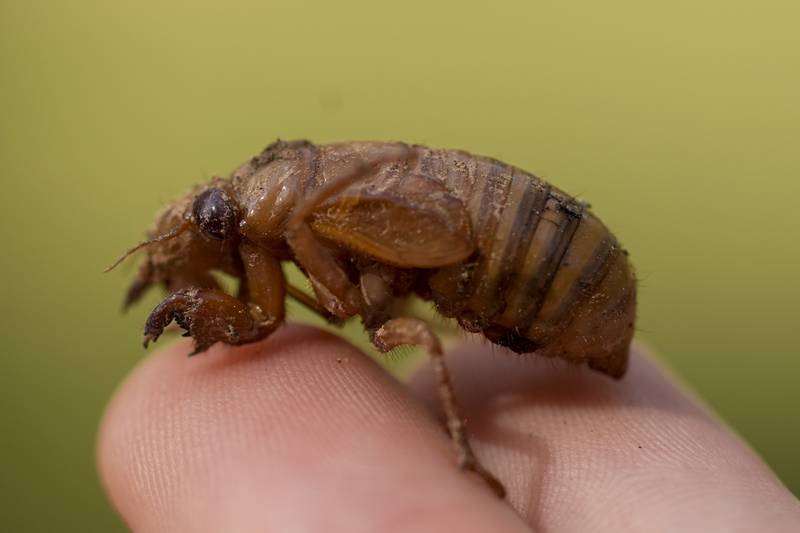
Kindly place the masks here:
POLYGON ((194 338, 191 355, 217 342, 239 345, 267 337, 283 322, 286 286, 280 262, 255 245, 243 243, 246 290, 242 299, 219 289, 190 287, 164 299, 150 314, 144 345, 155 341, 173 320, 194 338))

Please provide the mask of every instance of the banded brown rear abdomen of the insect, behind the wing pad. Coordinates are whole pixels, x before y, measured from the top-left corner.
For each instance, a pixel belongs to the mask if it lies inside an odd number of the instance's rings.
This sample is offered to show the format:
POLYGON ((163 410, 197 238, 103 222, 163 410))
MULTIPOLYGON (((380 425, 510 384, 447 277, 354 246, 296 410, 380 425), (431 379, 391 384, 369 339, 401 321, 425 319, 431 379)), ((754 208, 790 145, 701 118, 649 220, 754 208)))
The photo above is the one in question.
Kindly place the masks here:
POLYGON ((431 151, 426 166, 467 206, 477 246, 469 261, 431 277, 440 310, 514 351, 621 375, 635 280, 602 222, 543 180, 494 160, 431 151))

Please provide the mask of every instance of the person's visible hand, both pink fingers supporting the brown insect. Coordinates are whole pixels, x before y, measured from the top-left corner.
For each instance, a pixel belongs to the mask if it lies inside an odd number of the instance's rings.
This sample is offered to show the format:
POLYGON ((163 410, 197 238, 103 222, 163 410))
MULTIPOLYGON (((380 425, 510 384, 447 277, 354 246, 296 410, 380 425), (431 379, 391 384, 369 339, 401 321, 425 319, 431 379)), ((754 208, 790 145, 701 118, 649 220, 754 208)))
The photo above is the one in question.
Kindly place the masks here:
POLYGON ((453 463, 423 369, 406 387, 344 341, 286 326, 136 368, 101 425, 109 497, 137 532, 796 531, 798 501, 636 349, 615 382, 448 352, 495 498, 453 463), (510 504, 510 505, 509 505, 510 504))

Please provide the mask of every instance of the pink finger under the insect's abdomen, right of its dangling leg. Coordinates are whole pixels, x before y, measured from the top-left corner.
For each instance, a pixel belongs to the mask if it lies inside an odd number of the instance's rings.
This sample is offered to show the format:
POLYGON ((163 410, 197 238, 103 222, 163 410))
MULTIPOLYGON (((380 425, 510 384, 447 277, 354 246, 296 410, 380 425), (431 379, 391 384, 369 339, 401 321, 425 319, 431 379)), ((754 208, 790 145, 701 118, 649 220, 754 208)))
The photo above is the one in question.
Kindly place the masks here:
MULTIPOLYGON (((474 447, 545 531, 796 531, 800 506, 753 451, 634 349, 614 381, 469 344, 448 357, 474 447)), ((414 381, 436 405, 430 373, 414 381)))

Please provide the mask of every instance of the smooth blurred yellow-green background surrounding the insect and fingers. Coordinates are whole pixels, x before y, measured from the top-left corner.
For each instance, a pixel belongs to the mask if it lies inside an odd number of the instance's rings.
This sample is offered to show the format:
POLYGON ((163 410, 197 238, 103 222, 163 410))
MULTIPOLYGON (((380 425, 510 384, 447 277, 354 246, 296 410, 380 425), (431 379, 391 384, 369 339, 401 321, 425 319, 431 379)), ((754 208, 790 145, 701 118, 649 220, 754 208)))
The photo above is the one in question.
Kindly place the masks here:
POLYGON ((594 205, 640 337, 800 492, 800 3, 0 3, 0 523, 112 531, 103 406, 156 295, 101 274, 267 143, 489 154, 594 205), (601 5, 602 4, 602 5, 601 5))

